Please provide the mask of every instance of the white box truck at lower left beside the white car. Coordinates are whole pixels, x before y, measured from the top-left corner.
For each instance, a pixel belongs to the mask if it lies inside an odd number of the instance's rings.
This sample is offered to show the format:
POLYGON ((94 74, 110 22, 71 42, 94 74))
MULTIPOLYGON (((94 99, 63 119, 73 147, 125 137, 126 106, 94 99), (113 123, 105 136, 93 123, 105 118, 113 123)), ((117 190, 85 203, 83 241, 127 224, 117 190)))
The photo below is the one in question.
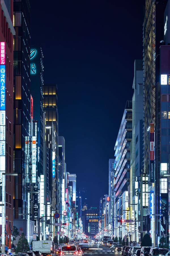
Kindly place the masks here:
POLYGON ((41 251, 42 255, 54 256, 54 243, 50 240, 33 241, 33 251, 41 251))

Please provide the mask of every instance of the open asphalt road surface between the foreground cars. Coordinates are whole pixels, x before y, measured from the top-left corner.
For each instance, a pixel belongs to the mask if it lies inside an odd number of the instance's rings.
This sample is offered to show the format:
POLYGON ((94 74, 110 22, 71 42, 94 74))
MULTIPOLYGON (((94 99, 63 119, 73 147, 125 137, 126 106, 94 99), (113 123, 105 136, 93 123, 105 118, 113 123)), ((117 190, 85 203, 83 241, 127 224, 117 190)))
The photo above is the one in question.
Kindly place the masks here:
MULTIPOLYGON (((83 244, 85 245, 85 244, 83 244)), ((86 245, 89 247, 83 252, 83 256, 88 256, 88 255, 94 255, 94 256, 106 256, 106 255, 113 255, 113 256, 122 256, 122 252, 111 252, 111 249, 107 246, 101 246, 98 244, 91 245, 87 244, 86 245)), ((81 244, 80 244, 81 247, 81 244)))

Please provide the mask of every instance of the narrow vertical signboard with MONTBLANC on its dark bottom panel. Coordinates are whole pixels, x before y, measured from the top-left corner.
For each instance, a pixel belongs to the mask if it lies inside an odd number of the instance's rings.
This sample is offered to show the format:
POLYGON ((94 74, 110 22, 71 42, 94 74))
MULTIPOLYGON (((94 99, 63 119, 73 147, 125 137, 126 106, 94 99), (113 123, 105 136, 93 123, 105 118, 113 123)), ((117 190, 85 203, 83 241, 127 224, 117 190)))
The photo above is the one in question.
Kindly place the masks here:
POLYGON ((150 123, 150 182, 154 183, 154 123, 150 123))

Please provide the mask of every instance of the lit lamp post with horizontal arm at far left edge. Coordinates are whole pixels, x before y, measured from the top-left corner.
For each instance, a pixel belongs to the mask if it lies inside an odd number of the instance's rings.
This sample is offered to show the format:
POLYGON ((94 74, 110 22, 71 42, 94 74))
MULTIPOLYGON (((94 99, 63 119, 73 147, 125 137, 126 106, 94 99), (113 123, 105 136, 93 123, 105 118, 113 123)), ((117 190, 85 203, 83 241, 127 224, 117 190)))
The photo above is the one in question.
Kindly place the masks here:
POLYGON ((17 176, 18 173, 2 173, 2 253, 5 253, 5 176, 17 176))

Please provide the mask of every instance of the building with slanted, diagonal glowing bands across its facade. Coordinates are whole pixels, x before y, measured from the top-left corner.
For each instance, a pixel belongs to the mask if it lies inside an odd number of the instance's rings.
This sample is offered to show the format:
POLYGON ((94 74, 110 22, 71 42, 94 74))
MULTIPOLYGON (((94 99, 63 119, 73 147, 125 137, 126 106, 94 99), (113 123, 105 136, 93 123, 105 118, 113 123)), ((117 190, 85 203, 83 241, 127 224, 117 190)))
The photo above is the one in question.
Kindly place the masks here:
MULTIPOLYGON (((114 216, 126 219, 127 191, 130 174, 130 143, 132 139, 132 100, 128 100, 120 124, 118 137, 115 144, 115 168, 114 168, 114 216)), ((139 168, 136 166, 136 168, 139 168)), ((132 193, 132 191, 131 191, 132 193)), ((127 234, 125 225, 122 226, 118 218, 114 219, 115 236, 123 237, 127 234)))

